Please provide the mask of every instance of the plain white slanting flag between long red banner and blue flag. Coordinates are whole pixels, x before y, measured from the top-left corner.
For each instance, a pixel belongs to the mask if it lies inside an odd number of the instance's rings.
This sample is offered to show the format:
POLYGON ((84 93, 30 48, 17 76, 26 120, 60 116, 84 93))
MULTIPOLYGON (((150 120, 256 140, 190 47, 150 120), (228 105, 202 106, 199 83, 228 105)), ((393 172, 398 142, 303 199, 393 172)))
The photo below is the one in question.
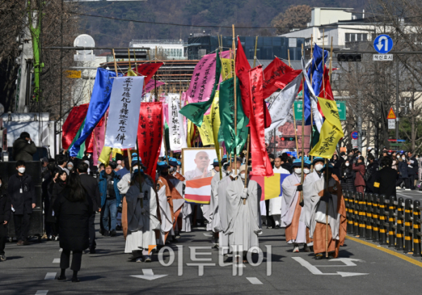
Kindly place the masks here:
POLYGON ((279 93, 273 103, 269 105, 269 115, 271 117, 271 126, 265 129, 265 133, 273 131, 276 126, 286 123, 287 115, 292 108, 296 95, 302 81, 302 74, 299 74, 279 93))

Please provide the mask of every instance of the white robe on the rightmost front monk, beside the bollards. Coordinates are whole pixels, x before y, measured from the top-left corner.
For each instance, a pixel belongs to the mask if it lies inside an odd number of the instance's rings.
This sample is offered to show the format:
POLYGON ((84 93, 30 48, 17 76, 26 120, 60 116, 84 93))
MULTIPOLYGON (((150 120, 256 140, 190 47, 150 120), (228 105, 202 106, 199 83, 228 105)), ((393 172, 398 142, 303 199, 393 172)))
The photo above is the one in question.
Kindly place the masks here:
MULTIPOLYGON (((334 185, 335 185, 334 178, 330 178, 330 180, 328 181, 328 186, 333 187, 334 185)), ((308 199, 308 201, 312 202, 313 204, 312 215, 311 215, 311 218, 309 218, 309 222, 310 222, 309 237, 310 238, 314 237, 314 230, 315 230, 315 225, 316 225, 316 221, 315 221, 316 213, 319 212, 320 214, 323 214, 324 220, 325 220, 327 203, 321 200, 321 197, 319 197, 318 195, 319 192, 321 192, 321 190, 324 190, 324 187, 326 187, 326 180, 324 179, 324 177, 321 177, 319 180, 314 182, 312 195, 308 199)), ((331 227, 331 235, 333 237, 333 240, 339 240, 340 237, 338 234, 338 230, 340 229, 340 213, 337 212, 338 197, 337 195, 330 194, 329 192, 328 194, 331 195, 331 198, 328 204, 328 224, 331 227)))

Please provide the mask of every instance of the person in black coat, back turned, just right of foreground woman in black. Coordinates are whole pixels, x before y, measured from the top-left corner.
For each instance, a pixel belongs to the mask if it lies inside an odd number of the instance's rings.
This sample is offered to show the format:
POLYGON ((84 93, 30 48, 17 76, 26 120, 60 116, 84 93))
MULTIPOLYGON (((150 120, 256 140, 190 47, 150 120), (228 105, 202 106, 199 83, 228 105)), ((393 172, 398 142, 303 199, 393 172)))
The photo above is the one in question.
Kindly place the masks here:
POLYGON ((77 165, 77 172, 81 178, 82 187, 87 190, 88 196, 92 201, 92 214, 89 217, 89 253, 95 254, 95 212, 101 212, 101 195, 96 179, 87 174, 88 164, 80 162, 77 165))

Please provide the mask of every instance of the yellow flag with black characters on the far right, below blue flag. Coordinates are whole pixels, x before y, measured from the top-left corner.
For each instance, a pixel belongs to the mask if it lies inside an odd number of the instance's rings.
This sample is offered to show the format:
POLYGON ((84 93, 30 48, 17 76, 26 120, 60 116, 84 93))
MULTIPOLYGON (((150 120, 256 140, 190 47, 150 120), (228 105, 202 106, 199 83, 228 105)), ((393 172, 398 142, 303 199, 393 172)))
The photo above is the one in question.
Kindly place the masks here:
POLYGON ((345 134, 343 133, 335 100, 318 98, 318 102, 321 107, 321 111, 324 114, 325 121, 321 127, 319 142, 316 143, 311 152, 309 152, 309 155, 331 159, 338 140, 343 138, 345 134))

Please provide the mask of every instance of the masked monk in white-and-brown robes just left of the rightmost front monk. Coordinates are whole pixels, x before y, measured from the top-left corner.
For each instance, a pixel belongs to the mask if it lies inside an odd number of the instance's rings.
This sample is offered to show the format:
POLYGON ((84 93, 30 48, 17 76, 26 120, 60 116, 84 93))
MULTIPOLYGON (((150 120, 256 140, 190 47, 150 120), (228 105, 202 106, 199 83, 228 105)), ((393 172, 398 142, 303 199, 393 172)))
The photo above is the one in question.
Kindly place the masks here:
MULTIPOLYGON (((303 169, 309 170, 311 162, 305 158, 303 169)), ((306 225, 300 216, 305 214, 302 210, 301 194, 302 185, 302 159, 295 159, 293 161, 293 173, 287 176, 281 184, 283 188, 283 204, 281 206, 281 227, 286 228, 286 242, 293 244, 293 253, 299 252, 299 245, 304 244, 303 250, 309 252, 310 249, 306 244, 306 225)), ((306 179, 306 174, 305 174, 306 179)))

